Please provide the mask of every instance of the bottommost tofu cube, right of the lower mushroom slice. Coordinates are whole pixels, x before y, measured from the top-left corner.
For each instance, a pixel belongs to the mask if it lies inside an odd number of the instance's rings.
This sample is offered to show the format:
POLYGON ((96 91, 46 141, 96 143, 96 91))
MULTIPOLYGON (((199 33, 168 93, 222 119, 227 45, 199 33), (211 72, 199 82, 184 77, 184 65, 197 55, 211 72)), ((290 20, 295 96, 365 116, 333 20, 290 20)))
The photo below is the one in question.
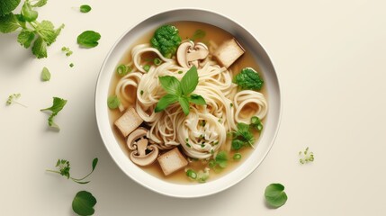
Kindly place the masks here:
POLYGON ((170 175, 188 165, 188 161, 183 154, 181 154, 178 148, 173 148, 167 151, 163 155, 159 156, 157 160, 165 175, 170 175))

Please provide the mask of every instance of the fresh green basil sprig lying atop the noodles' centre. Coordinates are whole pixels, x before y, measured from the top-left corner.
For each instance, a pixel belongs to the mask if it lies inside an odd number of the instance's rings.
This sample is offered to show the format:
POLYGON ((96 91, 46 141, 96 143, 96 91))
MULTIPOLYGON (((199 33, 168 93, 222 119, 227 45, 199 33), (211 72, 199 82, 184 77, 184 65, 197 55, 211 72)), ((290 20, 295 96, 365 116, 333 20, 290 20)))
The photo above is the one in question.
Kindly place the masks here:
POLYGON ((197 67, 193 66, 178 81, 175 76, 159 76, 159 82, 167 94, 159 99, 155 112, 161 112, 173 103, 180 103, 185 115, 189 114, 189 103, 205 105, 205 99, 201 95, 192 94, 198 85, 197 67))

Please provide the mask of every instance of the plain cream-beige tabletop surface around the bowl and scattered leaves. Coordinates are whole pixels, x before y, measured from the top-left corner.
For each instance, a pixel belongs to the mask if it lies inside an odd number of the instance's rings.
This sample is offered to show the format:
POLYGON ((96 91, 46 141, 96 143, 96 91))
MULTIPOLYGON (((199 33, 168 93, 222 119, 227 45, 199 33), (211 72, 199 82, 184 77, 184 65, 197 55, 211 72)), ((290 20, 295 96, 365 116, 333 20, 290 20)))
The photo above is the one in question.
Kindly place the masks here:
POLYGON ((39 9, 66 28, 36 59, 17 34, 0 35, 0 101, 21 93, 18 105, 0 105, 0 214, 74 215, 76 192, 97 198, 94 215, 386 215, 386 3, 342 1, 58 1, 39 9), (89 14, 73 7, 90 4, 89 14), (94 118, 94 86, 112 44, 143 19, 168 9, 195 7, 225 14, 251 31, 274 62, 283 89, 283 119, 274 147, 256 171, 222 193, 175 199, 134 183, 103 147, 94 118), (78 49, 85 30, 102 34, 94 49, 78 49), (74 54, 60 51, 68 46, 74 54), (75 67, 68 67, 73 62, 75 67), (42 67, 52 77, 40 81, 42 67), (52 96, 68 100, 48 130, 52 96), (310 147, 312 164, 298 152, 310 147), (90 184, 74 184, 46 168, 58 158, 90 184), (270 183, 285 185, 288 202, 265 206, 270 183))

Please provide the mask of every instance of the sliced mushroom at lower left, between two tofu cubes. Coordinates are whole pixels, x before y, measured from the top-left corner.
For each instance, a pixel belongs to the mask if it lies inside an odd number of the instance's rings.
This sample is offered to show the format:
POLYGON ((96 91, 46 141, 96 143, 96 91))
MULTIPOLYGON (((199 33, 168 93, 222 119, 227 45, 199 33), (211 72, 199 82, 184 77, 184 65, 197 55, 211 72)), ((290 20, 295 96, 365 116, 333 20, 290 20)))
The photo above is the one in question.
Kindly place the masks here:
POLYGON ((128 148, 132 150, 131 161, 139 166, 148 166, 158 157, 159 150, 156 145, 148 145, 147 134, 148 130, 140 127, 132 131, 126 141, 128 148))

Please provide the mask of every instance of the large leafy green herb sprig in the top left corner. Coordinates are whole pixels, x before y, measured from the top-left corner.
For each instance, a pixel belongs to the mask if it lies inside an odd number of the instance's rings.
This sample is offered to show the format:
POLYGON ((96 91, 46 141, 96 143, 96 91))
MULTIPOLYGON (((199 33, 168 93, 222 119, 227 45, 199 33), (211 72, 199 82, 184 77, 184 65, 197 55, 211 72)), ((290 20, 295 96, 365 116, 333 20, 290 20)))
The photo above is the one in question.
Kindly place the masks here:
MULTIPOLYGON (((11 0, 15 2, 15 0, 11 0)), ((61 24, 58 28, 47 21, 38 22, 38 12, 36 7, 41 7, 47 4, 47 0, 39 1, 25 0, 22 4, 22 11, 20 14, 4 14, 0 16, 0 32, 9 33, 13 31, 20 31, 17 41, 26 49, 31 48, 32 54, 37 58, 47 57, 47 47, 49 47, 64 28, 61 24), (34 4, 32 4, 34 2, 34 4)), ((1 9, 0 9, 1 10, 1 9)))

